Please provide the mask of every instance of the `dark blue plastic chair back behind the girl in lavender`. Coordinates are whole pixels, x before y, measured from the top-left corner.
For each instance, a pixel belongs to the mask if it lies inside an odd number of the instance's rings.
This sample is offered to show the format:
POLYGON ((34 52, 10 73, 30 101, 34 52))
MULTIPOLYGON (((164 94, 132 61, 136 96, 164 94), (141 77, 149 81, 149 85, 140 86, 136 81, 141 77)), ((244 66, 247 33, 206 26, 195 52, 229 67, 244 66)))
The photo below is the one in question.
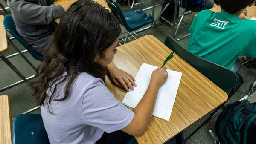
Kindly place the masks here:
POLYGON ((12 121, 12 144, 49 144, 42 116, 17 115, 12 121))

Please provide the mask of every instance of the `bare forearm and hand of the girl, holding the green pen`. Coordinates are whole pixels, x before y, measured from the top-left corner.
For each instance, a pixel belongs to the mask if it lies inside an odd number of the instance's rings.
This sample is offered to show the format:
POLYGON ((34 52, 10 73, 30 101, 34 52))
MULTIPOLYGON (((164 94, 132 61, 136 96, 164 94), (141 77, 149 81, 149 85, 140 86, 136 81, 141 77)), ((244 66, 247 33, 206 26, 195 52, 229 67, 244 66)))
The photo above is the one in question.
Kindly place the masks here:
POLYGON ((159 67, 152 72, 148 89, 134 109, 133 120, 128 126, 123 128, 122 131, 133 136, 143 135, 151 120, 158 91, 166 82, 167 78, 168 72, 166 71, 166 66, 164 66, 164 68, 159 67))

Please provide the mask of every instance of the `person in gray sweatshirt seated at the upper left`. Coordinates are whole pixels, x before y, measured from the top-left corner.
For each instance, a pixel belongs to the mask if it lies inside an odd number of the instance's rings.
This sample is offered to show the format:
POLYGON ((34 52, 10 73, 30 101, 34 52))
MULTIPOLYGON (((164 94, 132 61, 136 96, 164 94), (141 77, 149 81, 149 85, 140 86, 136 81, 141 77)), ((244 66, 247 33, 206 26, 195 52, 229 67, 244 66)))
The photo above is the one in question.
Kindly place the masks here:
POLYGON ((16 30, 20 37, 39 55, 43 55, 52 41, 58 19, 73 2, 51 4, 54 0, 7 0, 16 30))

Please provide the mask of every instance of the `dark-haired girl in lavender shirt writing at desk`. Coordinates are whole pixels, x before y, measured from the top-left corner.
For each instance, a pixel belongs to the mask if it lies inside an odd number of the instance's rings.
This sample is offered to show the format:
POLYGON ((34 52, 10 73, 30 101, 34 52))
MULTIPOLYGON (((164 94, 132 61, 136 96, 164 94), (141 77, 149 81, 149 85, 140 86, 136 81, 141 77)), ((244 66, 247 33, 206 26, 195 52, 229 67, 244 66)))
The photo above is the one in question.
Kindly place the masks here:
POLYGON ((90 0, 73 3, 62 16, 35 82, 50 143, 125 144, 145 132, 168 78, 166 67, 152 72, 134 111, 122 105, 104 84, 108 71, 117 86, 127 91, 127 85, 136 86, 133 76, 112 62, 120 33, 116 17, 90 0))

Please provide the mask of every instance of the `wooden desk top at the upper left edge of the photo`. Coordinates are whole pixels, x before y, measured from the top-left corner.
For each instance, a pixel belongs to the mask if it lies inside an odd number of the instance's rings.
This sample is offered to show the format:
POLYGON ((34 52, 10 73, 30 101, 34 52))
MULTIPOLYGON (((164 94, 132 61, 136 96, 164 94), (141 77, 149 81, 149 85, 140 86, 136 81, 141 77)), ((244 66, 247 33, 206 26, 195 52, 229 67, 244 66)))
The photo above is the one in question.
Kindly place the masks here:
POLYGON ((6 30, 3 28, 4 16, 0 15, 0 53, 8 49, 6 30))

